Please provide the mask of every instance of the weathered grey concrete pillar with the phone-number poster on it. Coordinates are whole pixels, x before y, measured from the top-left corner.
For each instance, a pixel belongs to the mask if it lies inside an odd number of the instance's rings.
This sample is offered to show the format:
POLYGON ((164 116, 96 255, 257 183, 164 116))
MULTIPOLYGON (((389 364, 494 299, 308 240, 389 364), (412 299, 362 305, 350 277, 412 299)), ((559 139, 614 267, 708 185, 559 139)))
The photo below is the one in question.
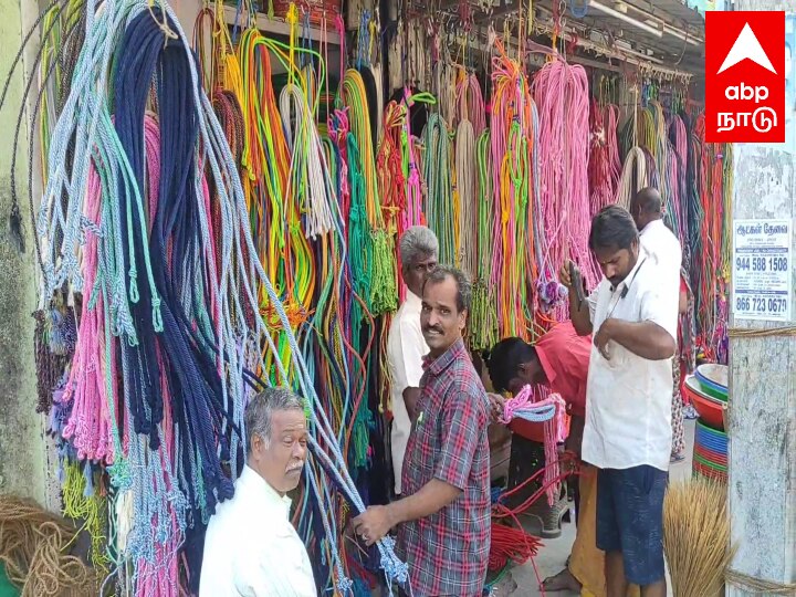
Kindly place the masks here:
MULTIPOLYGON (((794 10, 792 2, 773 0, 737 0, 735 8, 794 10)), ((796 156, 746 145, 736 146, 735 157, 733 218, 793 221, 796 156)), ((733 320, 731 327, 775 325, 733 320)), ((794 583, 796 338, 733 338, 730 366, 729 499, 732 536, 739 547, 732 569, 767 582, 794 583)), ((746 595, 754 593, 732 584, 727 587, 729 597, 746 595)))

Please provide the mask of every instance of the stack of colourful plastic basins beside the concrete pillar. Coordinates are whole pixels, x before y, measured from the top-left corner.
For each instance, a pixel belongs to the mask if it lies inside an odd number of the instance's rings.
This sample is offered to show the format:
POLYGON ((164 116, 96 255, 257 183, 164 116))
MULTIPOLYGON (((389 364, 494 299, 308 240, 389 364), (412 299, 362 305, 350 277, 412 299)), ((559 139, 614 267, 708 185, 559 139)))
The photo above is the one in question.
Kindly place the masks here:
POLYGON ((724 412, 727 406, 727 368, 725 365, 705 364, 685 378, 683 391, 699 413, 694 436, 692 471, 726 483, 727 437, 724 412))

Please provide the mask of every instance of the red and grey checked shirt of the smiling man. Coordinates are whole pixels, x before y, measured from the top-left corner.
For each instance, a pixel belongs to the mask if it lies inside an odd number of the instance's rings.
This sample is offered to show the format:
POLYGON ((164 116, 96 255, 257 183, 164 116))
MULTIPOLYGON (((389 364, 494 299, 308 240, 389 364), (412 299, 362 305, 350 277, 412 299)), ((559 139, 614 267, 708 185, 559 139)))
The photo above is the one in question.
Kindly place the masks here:
POLYGON ((486 392, 462 341, 425 368, 404 460, 404 494, 432 479, 462 493, 436 514, 402 524, 399 554, 409 565, 415 596, 480 596, 491 531, 486 392))

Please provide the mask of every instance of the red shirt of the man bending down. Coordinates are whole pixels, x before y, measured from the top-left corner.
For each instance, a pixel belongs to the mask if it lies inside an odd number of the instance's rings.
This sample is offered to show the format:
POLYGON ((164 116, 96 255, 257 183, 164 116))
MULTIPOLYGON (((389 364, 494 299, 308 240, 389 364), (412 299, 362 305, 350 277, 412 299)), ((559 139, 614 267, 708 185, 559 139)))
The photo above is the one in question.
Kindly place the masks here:
POLYGON ((549 389, 561 394, 572 407, 573 415, 584 417, 591 336, 578 336, 572 322, 562 322, 542 336, 534 347, 549 389))

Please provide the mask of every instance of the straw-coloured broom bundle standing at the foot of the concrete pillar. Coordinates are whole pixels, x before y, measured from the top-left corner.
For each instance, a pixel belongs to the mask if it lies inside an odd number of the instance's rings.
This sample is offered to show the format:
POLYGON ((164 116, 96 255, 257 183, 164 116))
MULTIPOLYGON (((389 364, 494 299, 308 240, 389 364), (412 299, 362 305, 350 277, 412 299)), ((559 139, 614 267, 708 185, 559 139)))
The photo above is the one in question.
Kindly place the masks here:
POLYGON ((669 488, 663 500, 663 549, 674 597, 722 594, 733 556, 723 485, 692 479, 669 488))

